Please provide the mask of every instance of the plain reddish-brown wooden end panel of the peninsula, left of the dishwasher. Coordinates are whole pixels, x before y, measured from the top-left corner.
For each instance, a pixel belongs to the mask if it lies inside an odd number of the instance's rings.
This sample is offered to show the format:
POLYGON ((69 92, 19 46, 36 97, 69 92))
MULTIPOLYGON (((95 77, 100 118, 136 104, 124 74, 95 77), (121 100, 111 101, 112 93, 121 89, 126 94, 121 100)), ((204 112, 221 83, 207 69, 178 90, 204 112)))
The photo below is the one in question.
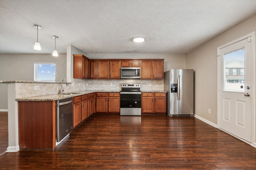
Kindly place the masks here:
POLYGON ((19 101, 20 149, 56 147, 56 101, 19 101))

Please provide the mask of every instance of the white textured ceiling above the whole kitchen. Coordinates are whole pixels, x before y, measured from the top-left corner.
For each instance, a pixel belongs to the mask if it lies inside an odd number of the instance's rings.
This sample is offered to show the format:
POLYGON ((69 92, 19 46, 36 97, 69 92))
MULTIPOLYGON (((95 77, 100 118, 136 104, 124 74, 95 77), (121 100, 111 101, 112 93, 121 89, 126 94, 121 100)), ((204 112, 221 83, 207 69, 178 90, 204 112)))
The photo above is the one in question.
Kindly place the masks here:
POLYGON ((58 53, 184 54, 253 14, 256 0, 0 0, 0 53, 52 53, 57 35, 58 53))

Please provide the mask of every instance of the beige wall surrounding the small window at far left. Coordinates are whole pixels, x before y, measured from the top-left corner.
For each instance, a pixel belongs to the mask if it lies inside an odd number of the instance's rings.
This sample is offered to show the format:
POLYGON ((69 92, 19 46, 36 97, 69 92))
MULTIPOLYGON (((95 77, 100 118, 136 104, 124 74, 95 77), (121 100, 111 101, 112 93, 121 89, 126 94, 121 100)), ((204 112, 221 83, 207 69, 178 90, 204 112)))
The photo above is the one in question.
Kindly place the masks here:
MULTIPOLYGON (((51 54, 0 54, 0 81, 34 81, 34 63, 54 62, 56 81, 66 78, 66 54, 53 57, 51 54)), ((0 84, 0 109, 8 109, 7 85, 0 84)))

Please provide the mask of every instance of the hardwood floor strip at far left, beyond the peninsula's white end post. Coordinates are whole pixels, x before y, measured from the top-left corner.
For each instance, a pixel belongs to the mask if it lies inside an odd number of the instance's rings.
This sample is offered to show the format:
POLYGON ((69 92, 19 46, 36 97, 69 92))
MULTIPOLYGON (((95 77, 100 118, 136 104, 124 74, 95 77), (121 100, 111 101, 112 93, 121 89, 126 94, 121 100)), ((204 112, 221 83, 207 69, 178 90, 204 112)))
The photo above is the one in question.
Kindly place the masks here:
POLYGON ((8 147, 8 112, 0 112, 0 156, 8 147))

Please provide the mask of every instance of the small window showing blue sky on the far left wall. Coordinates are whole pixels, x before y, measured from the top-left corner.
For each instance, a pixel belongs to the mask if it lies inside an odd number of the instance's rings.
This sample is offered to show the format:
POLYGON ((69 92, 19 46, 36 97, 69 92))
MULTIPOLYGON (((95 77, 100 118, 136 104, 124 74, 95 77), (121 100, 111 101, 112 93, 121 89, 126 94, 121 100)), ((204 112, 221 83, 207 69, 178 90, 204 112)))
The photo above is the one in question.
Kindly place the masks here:
POLYGON ((55 82, 55 63, 34 63, 34 81, 55 82))

